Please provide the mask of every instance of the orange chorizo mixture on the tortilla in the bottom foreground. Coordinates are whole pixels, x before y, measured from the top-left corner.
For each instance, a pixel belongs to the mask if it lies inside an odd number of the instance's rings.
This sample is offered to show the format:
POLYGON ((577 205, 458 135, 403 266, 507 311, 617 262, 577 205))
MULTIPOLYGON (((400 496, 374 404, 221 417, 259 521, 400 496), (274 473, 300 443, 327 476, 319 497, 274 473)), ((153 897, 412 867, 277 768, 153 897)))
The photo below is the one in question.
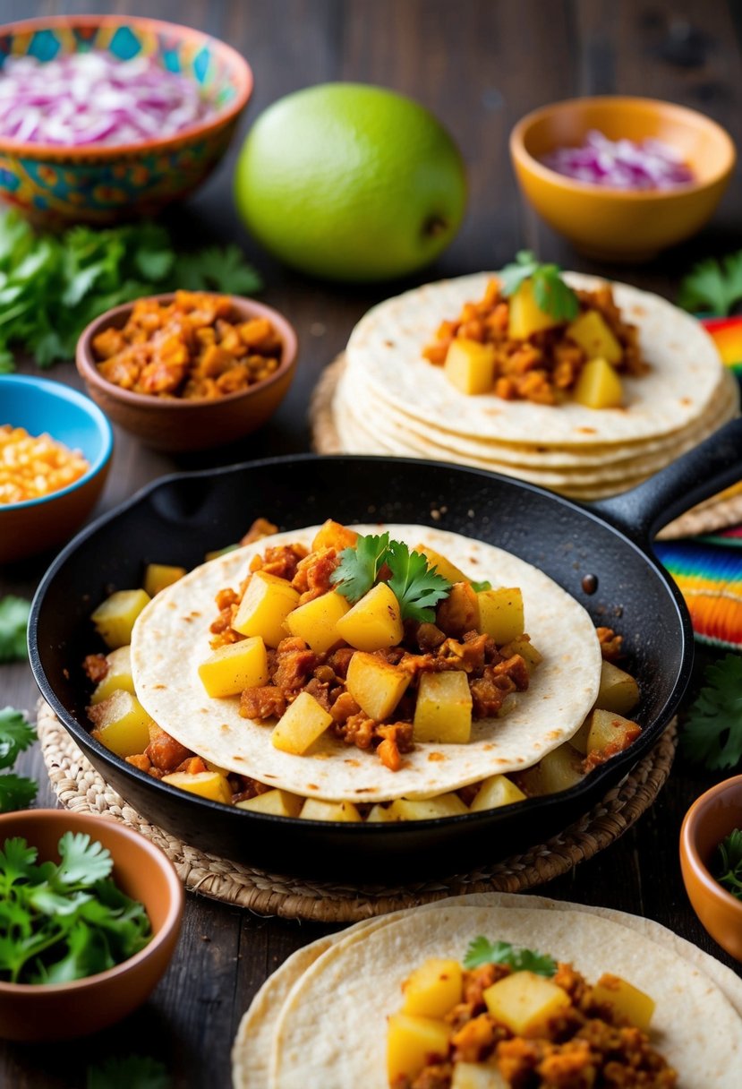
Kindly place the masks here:
MULTIPOLYGON (((540 954, 535 956, 543 959, 540 954)), ((455 962, 437 964, 457 967, 455 962)), ((638 1027, 627 1016, 630 1007, 620 998, 621 990, 627 988, 623 980, 606 974, 592 987, 570 964, 557 965, 553 960, 551 964, 553 974, 546 987, 557 998, 562 992, 561 999, 552 1000, 551 1015, 543 1018, 536 1015, 537 1019, 533 1018, 533 1024, 520 1031, 514 1028, 515 1021, 524 1016, 522 1011, 508 1007, 508 1000, 503 999, 502 989, 497 995, 495 984, 527 975, 531 979, 518 990, 532 994, 533 972, 508 964, 484 964, 461 970, 459 1001, 440 1020, 440 1039, 447 1039, 447 1044, 443 1042, 440 1051, 429 1052, 421 1061, 422 1066, 420 1062, 396 1061, 398 1041, 396 1047, 392 1042, 395 1018, 391 1017, 391 1089, 452 1089, 459 1064, 481 1065, 485 1079, 487 1070, 493 1075, 496 1072, 497 1085, 515 1089, 672 1089, 678 1084, 677 1073, 652 1045, 646 1026, 638 1027), (407 1065, 407 1072, 394 1074, 397 1065, 407 1065)), ((535 976, 536 994, 539 980, 545 976, 548 971, 535 976)), ((641 996, 652 1011, 654 1003, 648 995, 631 984, 628 990, 634 998, 641 996)), ((549 995, 540 995, 535 1001, 543 1001, 546 1008, 549 995)), ((415 1014, 408 1017, 403 1031, 411 1029, 413 1033, 415 1027, 409 1023, 415 1019, 415 1014)), ((469 1067, 465 1068, 469 1073, 469 1067)), ((463 1075, 465 1070, 460 1073, 463 1075)), ((463 1080, 467 1085, 480 1084, 474 1077, 462 1079, 461 1084, 463 1080)))

